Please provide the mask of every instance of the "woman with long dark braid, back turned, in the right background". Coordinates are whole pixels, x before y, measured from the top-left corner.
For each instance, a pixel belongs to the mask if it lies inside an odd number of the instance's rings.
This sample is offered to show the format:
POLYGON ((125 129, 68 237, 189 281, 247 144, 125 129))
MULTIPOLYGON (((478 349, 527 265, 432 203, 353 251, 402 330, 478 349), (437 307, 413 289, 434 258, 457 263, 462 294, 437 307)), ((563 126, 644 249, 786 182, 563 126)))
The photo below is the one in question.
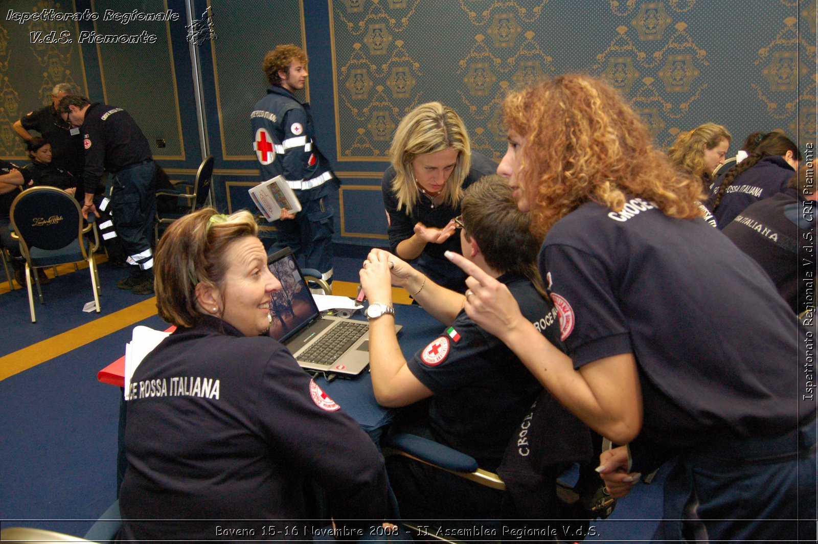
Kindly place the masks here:
POLYGON ((801 163, 801 151, 782 133, 769 133, 712 187, 707 207, 719 228, 726 227, 748 205, 784 191, 801 163))

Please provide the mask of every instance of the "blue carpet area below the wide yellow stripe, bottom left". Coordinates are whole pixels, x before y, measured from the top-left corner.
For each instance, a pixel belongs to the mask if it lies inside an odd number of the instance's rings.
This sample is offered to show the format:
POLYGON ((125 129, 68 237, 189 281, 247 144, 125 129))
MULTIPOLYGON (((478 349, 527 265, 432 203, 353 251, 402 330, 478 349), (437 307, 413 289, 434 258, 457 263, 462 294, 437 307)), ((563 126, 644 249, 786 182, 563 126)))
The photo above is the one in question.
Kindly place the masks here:
MULTIPOLYGON (((167 326, 159 317, 138 324, 167 326)), ((0 381, 4 526, 83 535, 115 500, 121 393, 97 371, 124 354, 132 329, 0 381)))

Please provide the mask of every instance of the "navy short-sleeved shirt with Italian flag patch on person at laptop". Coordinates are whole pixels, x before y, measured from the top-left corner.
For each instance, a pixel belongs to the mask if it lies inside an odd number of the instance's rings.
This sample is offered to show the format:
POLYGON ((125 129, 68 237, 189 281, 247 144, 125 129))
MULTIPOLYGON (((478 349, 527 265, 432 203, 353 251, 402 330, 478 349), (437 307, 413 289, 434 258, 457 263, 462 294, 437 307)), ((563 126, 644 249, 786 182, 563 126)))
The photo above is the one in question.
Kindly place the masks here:
MULTIPOLYGON (((561 346, 551 300, 543 299, 523 276, 505 274, 497 279, 509 288, 523 315, 551 343, 561 346)), ((511 434, 542 391, 506 344, 477 326, 465 311, 407 365, 434 392, 428 425, 435 440, 473 456, 487 470, 500 464, 511 434)))

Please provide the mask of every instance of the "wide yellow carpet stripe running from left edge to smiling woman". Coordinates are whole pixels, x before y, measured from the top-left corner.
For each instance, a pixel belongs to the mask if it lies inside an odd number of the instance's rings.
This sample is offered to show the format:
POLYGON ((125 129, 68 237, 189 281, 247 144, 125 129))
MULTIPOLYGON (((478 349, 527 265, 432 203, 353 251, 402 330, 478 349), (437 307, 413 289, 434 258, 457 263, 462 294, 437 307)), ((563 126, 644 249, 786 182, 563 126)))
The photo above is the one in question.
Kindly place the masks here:
MULTIPOLYGON (((101 339, 103 336, 110 335, 119 329, 155 315, 156 297, 151 297, 141 303, 123 308, 119 312, 114 312, 106 317, 100 317, 85 325, 67 330, 61 335, 52 336, 47 340, 30 345, 28 348, 9 353, 5 357, 0 357, 0 380, 5 380, 9 376, 28 370, 41 362, 59 357, 72 349, 90 344, 94 340, 101 339)), ((124 345, 121 354, 125 354, 124 345)), ((110 361, 101 361, 100 368, 113 362, 115 358, 117 357, 112 358, 110 361)))

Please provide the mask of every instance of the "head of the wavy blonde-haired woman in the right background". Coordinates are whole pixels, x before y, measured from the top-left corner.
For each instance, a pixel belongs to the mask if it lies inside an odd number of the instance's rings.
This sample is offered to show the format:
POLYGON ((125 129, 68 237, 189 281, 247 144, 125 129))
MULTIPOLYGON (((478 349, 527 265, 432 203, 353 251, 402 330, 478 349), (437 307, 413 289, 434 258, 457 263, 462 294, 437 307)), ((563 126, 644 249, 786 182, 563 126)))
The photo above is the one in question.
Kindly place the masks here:
POLYGON ((673 164, 701 179, 703 191, 708 192, 713 182, 711 173, 724 162, 732 139, 720 124, 705 123, 680 133, 667 155, 673 164))

